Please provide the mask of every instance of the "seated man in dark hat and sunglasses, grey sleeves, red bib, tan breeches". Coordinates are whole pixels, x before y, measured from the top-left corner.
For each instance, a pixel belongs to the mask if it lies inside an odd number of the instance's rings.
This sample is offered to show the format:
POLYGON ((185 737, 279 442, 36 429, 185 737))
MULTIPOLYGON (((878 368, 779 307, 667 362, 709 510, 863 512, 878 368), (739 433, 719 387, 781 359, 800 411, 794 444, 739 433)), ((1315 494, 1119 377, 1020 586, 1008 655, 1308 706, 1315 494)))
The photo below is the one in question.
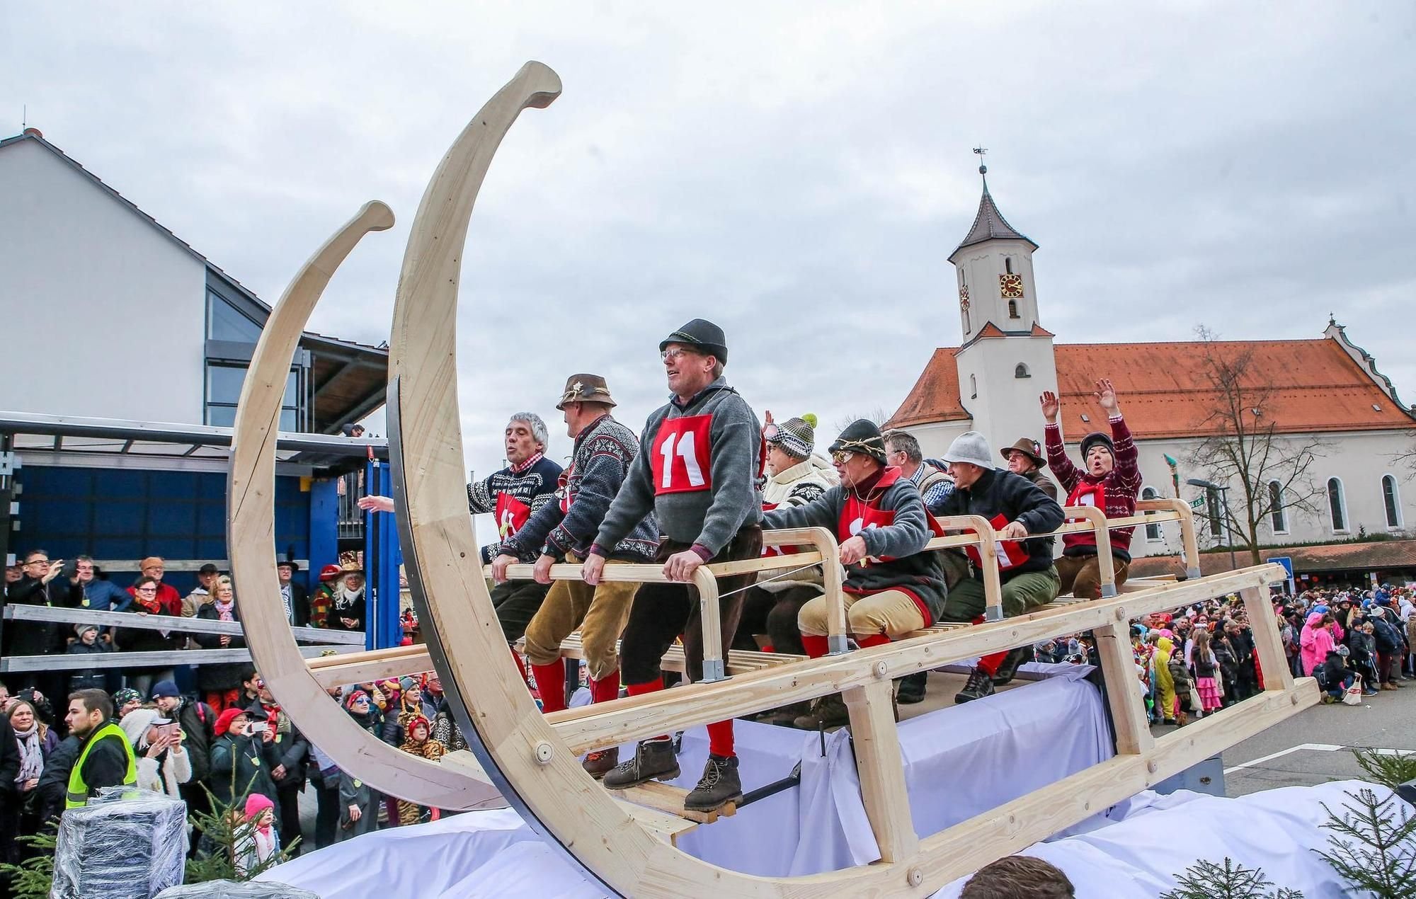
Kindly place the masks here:
MULTIPOLYGON (((933 624, 944 607, 944 572, 937 554, 922 552, 933 531, 919 488, 885 464, 885 439, 874 422, 847 425, 830 452, 841 483, 804 505, 766 513, 763 525, 835 532, 845 565, 847 630, 862 648, 933 624)), ((817 596, 797 614, 801 646, 811 658, 830 648, 827 603, 833 599, 817 596)), ((840 695, 830 695, 794 723, 816 729, 847 718, 840 695)))

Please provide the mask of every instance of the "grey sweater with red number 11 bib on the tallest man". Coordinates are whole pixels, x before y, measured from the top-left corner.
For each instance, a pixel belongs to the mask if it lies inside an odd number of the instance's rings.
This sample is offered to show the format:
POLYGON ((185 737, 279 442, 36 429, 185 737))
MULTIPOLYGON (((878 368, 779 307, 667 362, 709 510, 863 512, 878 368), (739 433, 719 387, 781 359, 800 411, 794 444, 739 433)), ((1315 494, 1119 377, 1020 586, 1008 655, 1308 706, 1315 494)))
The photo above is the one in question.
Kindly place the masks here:
POLYGON ((606 548, 616 546, 653 513, 668 539, 718 555, 739 528, 762 521, 762 494, 756 486, 760 470, 762 425, 724 378, 687 403, 673 398, 644 422, 639 456, 605 514, 590 552, 610 555, 606 548), (685 440, 685 435, 670 440, 675 419, 700 422, 708 446, 685 440), (661 433, 666 425, 668 430, 661 433))

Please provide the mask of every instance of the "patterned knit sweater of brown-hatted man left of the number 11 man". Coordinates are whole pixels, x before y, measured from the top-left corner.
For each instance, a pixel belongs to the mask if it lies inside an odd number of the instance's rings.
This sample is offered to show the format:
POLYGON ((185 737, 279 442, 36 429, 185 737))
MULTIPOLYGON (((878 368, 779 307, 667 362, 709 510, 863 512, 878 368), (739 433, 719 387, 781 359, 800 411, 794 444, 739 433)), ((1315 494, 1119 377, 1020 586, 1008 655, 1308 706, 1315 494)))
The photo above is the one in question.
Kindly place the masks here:
MULTIPOLYGON (((575 437, 571 467, 561 476, 559 498, 537 508, 525 527, 501 542, 501 551, 517 558, 573 552, 583 559, 637 453, 639 437, 633 430, 609 415, 592 422, 575 437)), ((650 513, 615 545, 610 556, 651 562, 656 549, 658 522, 650 513)))

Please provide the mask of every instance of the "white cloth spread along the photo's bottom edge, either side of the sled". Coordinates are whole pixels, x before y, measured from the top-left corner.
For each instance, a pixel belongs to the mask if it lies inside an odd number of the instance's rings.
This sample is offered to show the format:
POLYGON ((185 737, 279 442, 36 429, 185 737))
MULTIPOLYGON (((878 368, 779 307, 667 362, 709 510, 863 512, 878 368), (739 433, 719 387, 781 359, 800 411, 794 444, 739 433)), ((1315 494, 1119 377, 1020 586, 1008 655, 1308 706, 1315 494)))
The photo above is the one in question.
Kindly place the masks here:
MULTIPOLYGON (((1197 859, 1218 862, 1225 857, 1262 868, 1274 885, 1298 889, 1308 899, 1345 899, 1337 875, 1313 849, 1327 848, 1328 831, 1320 827, 1327 821, 1324 803, 1337 811, 1351 801, 1345 793, 1368 786, 1344 780, 1240 798, 1141 793, 1129 803, 1123 820, 1039 842, 1024 854, 1065 871, 1079 899, 1154 899, 1197 859)), ((1371 789, 1378 797, 1391 796, 1382 787, 1371 789)), ((324 899, 387 899, 389 889, 416 889, 426 899, 605 895, 507 810, 368 834, 303 855, 258 879, 317 889, 324 899)), ((933 899, 956 899, 966 881, 944 886, 933 899)))

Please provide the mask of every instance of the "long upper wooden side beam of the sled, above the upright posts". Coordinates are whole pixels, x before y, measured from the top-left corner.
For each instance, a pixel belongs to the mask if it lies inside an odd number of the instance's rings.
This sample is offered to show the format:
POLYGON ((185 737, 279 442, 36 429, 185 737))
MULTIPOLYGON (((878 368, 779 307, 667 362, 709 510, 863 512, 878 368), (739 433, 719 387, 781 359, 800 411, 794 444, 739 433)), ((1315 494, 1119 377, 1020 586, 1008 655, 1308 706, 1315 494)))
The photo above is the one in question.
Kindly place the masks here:
POLYGON ((888 665, 891 678, 899 678, 1059 634, 1095 630, 1117 620, 1199 602, 1216 593, 1263 586, 1281 576, 1280 566, 1260 565, 1212 575, 1205 580, 1178 580, 1144 593, 1079 602, 959 631, 857 650, 847 655, 775 665, 736 677, 729 684, 688 684, 643 697, 554 712, 545 718, 572 752, 585 753, 858 687, 875 677, 871 665, 878 661, 888 665))

